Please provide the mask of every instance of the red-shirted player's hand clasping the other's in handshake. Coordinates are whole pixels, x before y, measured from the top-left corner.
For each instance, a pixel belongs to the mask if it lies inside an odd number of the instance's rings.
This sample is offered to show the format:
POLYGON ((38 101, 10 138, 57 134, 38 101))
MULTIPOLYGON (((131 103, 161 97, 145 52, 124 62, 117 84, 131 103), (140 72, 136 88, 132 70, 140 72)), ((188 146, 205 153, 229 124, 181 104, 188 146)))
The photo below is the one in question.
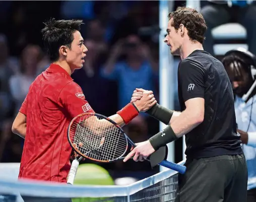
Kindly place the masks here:
POLYGON ((145 112, 157 103, 153 91, 144 91, 140 100, 134 102, 141 112, 145 112))

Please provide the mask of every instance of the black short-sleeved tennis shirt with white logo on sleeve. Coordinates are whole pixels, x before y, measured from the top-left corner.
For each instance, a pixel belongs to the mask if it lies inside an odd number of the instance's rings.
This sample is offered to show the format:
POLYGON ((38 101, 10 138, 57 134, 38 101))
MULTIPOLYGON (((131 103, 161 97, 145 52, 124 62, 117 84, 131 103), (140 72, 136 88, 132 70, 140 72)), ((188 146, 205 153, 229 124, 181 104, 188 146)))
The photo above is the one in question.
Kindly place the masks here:
POLYGON ((242 154, 236 133, 234 96, 223 64, 204 50, 195 50, 178 66, 181 111, 191 98, 205 99, 204 121, 185 134, 187 158, 242 154))

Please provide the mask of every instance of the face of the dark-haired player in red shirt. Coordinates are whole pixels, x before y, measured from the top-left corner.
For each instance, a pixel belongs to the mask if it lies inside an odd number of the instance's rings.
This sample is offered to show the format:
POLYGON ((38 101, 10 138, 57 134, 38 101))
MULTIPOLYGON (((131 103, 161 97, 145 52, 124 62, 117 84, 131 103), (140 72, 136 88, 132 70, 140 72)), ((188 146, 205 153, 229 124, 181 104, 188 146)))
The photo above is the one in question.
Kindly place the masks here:
POLYGON ((88 49, 84 45, 84 39, 79 31, 74 32, 74 40, 71 43, 71 48, 67 48, 66 60, 72 71, 81 69, 85 62, 85 56, 88 49))

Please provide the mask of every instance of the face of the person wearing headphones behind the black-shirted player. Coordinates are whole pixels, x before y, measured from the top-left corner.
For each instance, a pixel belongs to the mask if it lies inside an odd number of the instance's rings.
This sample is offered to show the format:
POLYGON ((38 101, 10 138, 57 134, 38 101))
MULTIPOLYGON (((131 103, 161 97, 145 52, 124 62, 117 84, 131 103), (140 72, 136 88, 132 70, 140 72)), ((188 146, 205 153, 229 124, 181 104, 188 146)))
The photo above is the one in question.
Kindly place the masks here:
POLYGON ((232 84, 234 94, 242 97, 248 92, 253 83, 249 71, 245 70, 239 61, 233 61, 225 66, 225 69, 232 84))

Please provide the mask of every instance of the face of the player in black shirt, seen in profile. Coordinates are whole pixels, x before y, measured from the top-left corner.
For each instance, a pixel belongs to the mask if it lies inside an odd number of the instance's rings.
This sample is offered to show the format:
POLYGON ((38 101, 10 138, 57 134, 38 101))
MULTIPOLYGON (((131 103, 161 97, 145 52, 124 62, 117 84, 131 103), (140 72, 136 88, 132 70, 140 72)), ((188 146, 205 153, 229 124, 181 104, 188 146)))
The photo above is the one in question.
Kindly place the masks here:
POLYGON ((172 26, 173 18, 171 18, 168 22, 167 26, 167 35, 164 39, 164 42, 170 47, 170 51, 172 55, 180 55, 181 44, 183 42, 183 37, 180 33, 180 28, 176 31, 172 26))

